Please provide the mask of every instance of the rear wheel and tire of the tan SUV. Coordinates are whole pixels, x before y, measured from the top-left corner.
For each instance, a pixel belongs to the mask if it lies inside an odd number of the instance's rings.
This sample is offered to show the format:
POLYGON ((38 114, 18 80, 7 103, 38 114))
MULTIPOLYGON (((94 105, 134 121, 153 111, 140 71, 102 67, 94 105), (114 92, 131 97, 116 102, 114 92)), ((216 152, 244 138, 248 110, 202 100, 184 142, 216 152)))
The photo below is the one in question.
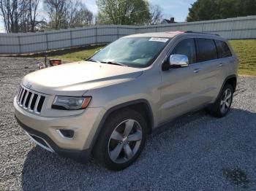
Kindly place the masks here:
POLYGON ((207 112, 214 117, 225 117, 230 111, 230 106, 233 101, 233 86, 230 84, 225 85, 222 88, 222 92, 219 94, 219 98, 207 108, 207 112))

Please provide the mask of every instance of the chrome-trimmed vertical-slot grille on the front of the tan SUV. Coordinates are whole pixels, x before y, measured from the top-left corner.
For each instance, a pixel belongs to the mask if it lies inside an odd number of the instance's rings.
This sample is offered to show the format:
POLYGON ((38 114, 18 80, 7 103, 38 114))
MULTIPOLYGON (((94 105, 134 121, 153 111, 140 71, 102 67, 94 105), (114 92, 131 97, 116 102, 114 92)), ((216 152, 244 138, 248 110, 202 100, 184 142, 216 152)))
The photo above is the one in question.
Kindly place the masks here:
POLYGON ((17 95, 17 103, 20 107, 28 110, 29 112, 40 114, 44 102, 45 95, 20 86, 20 90, 17 95))

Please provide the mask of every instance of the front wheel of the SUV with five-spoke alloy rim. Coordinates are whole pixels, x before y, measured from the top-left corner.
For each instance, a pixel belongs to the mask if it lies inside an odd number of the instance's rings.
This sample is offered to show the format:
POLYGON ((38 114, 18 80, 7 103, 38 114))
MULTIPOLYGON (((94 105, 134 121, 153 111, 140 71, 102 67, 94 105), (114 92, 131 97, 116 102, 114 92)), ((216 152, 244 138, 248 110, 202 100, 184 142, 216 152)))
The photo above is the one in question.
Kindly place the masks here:
POLYGON ((120 171, 135 162, 146 142, 146 121, 135 110, 110 114, 93 150, 105 168, 120 171))

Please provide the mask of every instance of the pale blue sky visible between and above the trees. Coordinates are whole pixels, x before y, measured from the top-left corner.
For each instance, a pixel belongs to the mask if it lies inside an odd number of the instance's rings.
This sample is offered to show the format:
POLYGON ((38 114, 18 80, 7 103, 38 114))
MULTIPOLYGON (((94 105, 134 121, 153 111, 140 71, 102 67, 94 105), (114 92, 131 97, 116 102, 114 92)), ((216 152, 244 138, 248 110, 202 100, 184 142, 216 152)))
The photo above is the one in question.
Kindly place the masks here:
MULTIPOLYGON (((86 6, 97 15, 97 5, 96 0, 82 0, 86 6)), ((189 12, 189 7, 196 0, 148 0, 151 4, 158 4, 162 7, 162 12, 164 18, 170 19, 170 17, 175 17, 176 22, 184 22, 186 20, 187 14, 189 12)), ((43 6, 40 4, 39 16, 46 15, 43 11, 43 6)), ((0 18, 1 19, 1 18, 0 18)), ((0 20, 0 33, 4 32, 3 21, 0 20)))

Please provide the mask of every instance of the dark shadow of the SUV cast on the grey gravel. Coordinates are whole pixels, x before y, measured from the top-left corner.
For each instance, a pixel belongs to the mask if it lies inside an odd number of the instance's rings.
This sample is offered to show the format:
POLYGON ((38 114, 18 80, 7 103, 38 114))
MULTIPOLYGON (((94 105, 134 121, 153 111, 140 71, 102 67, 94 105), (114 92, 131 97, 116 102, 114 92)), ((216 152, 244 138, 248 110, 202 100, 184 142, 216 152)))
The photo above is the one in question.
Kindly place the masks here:
POLYGON ((222 119, 189 114, 149 136, 139 160, 118 172, 34 147, 21 184, 23 190, 256 190, 255 124, 256 114, 241 109, 222 119))

